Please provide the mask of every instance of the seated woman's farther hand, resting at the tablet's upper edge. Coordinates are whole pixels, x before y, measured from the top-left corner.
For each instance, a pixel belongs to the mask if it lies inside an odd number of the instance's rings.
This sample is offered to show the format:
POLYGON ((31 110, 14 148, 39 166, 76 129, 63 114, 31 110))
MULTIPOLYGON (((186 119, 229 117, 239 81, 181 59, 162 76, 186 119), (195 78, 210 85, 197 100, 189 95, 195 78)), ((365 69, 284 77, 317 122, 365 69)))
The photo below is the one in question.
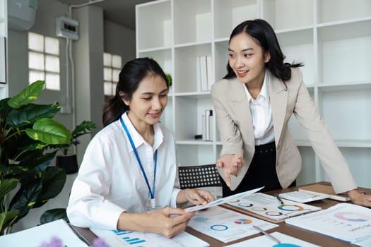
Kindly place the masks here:
POLYGON ((177 203, 189 202, 193 205, 205 205, 213 200, 215 200, 215 198, 209 191, 194 188, 185 188, 179 191, 177 195, 177 203))

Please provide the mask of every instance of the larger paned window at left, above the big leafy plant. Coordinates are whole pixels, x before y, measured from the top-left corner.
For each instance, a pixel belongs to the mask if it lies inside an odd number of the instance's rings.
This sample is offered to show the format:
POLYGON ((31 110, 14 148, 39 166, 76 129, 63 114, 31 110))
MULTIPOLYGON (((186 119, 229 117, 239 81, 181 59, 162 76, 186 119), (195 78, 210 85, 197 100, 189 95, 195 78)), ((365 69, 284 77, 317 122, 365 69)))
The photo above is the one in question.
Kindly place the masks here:
POLYGON ((28 80, 45 80, 45 88, 60 90, 59 40, 28 32, 28 80))

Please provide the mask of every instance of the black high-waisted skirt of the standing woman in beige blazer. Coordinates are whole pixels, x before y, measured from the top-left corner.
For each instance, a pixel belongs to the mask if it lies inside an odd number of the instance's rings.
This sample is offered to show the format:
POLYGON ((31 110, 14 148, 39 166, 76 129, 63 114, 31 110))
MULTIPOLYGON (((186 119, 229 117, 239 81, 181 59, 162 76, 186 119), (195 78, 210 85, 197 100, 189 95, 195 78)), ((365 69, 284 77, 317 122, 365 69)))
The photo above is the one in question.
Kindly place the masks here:
MULTIPOLYGON (((261 192, 281 189, 276 172, 276 144, 255 146, 254 157, 244 178, 235 191, 231 191, 222 179, 223 197, 264 186, 261 192)), ((290 185, 295 186, 295 181, 290 185)))

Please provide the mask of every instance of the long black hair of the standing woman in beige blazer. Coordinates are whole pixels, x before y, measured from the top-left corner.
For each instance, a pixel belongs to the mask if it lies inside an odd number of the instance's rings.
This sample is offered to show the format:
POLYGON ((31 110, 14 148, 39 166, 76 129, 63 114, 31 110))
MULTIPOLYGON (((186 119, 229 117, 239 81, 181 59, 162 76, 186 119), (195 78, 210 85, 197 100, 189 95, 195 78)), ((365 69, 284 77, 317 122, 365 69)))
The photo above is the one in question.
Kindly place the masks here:
MULTIPOLYGON (((246 20, 243 23, 240 23, 232 30, 230 34, 230 39, 239 35, 240 33, 245 33, 252 37, 252 39, 263 49, 264 54, 269 52, 271 59, 266 63, 266 68, 273 73, 277 78, 286 81, 291 78, 291 69, 295 67, 303 66, 303 64, 289 64, 283 63, 285 60, 285 55, 281 51, 280 44, 278 44, 276 33, 269 23, 262 19, 255 20, 246 20)), ((224 79, 235 78, 235 72, 227 64, 227 74, 224 76, 224 79)))

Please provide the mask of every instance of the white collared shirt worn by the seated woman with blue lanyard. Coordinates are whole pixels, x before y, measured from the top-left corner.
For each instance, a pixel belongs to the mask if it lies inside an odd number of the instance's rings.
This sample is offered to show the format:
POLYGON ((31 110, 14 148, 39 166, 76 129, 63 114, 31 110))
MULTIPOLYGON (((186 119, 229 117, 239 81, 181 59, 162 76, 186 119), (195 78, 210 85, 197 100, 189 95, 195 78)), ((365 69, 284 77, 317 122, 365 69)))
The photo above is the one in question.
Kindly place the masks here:
MULTIPOLYGON (((179 180, 172 133, 156 123, 152 147, 136 131, 126 113, 122 119, 134 141, 151 189, 154 153, 158 150, 156 205, 176 207, 179 180)), ((77 227, 116 229, 122 212, 146 212, 150 198, 129 138, 120 121, 114 121, 97 133, 86 149, 69 198, 69 220, 77 227)))

